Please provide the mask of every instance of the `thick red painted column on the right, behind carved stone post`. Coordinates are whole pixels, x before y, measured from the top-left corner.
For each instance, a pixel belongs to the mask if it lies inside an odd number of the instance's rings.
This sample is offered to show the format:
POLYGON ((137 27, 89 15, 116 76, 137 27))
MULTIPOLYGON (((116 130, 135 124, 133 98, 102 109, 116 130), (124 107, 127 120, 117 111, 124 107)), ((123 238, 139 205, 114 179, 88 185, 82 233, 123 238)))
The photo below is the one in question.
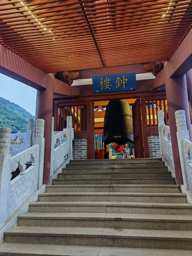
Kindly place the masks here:
POLYGON ((167 95, 167 105, 168 105, 168 114, 169 114, 169 123, 170 123, 170 134, 171 134, 171 143, 173 149, 173 160, 175 165, 175 174, 176 174, 176 183, 178 185, 183 184, 181 164, 179 158, 179 149, 177 143, 177 127, 175 120, 175 111, 184 110, 186 116, 187 130, 189 130, 190 140, 192 139, 191 134, 191 123, 190 123, 190 114, 189 114, 189 105, 187 98, 187 83, 186 76, 171 78, 169 77, 169 62, 166 62, 164 65, 165 69, 165 88, 167 95))

